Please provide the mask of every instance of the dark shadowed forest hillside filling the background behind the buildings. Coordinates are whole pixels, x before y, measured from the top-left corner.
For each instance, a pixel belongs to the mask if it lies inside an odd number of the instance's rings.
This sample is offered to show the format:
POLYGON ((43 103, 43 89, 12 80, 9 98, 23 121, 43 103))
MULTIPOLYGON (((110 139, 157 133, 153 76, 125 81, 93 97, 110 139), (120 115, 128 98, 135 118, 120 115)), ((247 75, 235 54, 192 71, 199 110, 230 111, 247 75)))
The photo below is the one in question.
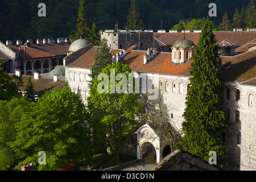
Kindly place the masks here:
MULTIPOLYGON (((226 12, 230 22, 233 15, 246 7, 250 0, 137 0, 140 16, 146 28, 170 30, 180 20, 202 19, 208 16, 209 3, 216 3, 217 16, 210 20, 217 26, 226 12)), ((88 25, 97 30, 125 28, 130 0, 86 0, 88 25)), ((5 0, 0 6, 0 40, 65 38, 76 29, 79 0, 5 0), (46 17, 39 17, 38 4, 46 4, 46 17)))

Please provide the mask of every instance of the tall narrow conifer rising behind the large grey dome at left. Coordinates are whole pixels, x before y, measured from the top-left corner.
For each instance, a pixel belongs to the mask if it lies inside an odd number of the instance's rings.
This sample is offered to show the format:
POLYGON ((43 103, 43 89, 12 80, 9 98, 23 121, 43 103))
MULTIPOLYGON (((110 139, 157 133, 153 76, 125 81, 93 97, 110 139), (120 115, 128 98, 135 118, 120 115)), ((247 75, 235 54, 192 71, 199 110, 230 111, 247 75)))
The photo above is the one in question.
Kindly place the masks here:
POLYGON ((76 32, 72 36, 72 41, 75 41, 77 39, 82 38, 87 38, 89 34, 89 27, 87 24, 86 20, 86 14, 85 14, 85 9, 84 9, 84 4, 86 0, 80 0, 79 4, 79 12, 78 12, 78 17, 77 17, 77 25, 76 25, 76 32))

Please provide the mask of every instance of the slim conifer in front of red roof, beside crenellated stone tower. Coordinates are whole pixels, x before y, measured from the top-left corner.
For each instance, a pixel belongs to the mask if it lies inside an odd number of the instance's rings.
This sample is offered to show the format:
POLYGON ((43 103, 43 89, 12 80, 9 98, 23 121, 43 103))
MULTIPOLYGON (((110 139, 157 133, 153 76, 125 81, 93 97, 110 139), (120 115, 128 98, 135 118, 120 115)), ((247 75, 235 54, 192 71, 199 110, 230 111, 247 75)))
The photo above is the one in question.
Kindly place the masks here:
MULTIPOLYGON (((98 51, 94 54, 94 63, 91 65, 92 70, 89 76, 94 79, 95 76, 98 76, 98 74, 101 73, 102 69, 112 63, 112 54, 108 47, 108 41, 106 39, 102 39, 100 46, 98 47, 98 51)), ((90 84, 92 84, 92 82, 90 84)))

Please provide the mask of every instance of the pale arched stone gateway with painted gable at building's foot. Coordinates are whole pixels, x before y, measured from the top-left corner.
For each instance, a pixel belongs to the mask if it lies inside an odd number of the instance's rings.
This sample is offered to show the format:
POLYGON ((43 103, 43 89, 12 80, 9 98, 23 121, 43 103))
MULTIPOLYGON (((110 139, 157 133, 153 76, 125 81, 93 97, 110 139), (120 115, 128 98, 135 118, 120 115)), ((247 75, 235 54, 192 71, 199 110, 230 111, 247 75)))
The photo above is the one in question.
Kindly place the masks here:
MULTIPOLYGON (((159 163, 160 160, 171 150, 167 150, 166 148, 170 148, 171 146, 171 137, 158 137, 156 132, 150 127, 150 125, 145 124, 140 127, 137 131, 137 159, 143 158, 142 146, 144 143, 149 142, 155 148, 156 154, 156 163, 159 163)), ((171 149, 171 148, 170 148, 171 149)))

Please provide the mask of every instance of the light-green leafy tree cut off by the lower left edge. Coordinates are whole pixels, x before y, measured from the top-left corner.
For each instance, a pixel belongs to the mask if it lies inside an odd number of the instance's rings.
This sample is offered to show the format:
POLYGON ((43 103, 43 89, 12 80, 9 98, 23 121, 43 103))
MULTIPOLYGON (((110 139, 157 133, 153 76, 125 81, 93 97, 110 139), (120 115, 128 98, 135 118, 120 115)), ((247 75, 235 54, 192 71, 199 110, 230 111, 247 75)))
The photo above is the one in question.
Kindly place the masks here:
POLYGON ((15 123, 20 121, 23 113, 30 111, 29 106, 30 102, 24 97, 0 101, 0 171, 11 170, 15 167, 17 161, 7 143, 15 140, 15 123))

